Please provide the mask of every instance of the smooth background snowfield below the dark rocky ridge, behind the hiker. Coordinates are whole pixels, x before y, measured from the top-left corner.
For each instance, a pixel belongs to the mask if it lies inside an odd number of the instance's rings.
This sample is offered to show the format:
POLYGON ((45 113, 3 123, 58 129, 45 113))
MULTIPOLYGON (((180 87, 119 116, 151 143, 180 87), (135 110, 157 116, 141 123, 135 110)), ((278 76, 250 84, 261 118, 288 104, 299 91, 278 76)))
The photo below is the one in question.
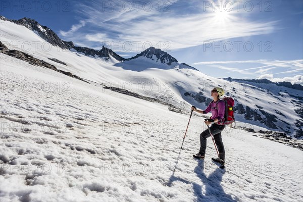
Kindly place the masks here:
MULTIPOLYGON (((73 49, 69 51, 53 46, 24 26, 4 20, 0 20, 0 25, 0 40, 8 48, 27 52, 35 58, 55 65, 60 70, 69 71, 89 81, 156 97, 182 110, 188 110, 191 105, 204 109, 207 102, 197 102, 196 94, 200 92, 203 93, 203 96, 211 98, 211 89, 220 85, 235 98, 236 105, 241 104, 244 109, 248 107, 251 110, 261 106, 265 113, 276 116, 270 121, 273 126, 277 127, 276 130, 289 131, 289 135, 296 135, 295 129, 297 128, 294 127, 294 123, 301 118, 294 110, 298 110, 300 105, 293 103, 294 98, 291 96, 300 96, 302 92, 299 90, 275 85, 262 86, 260 84, 260 87, 256 87, 250 84, 229 82, 210 77, 196 70, 186 69, 182 64, 171 69, 171 66, 159 65, 155 61, 148 62, 142 57, 121 63, 112 58, 106 62, 100 58, 77 53, 73 49), (58 59, 67 66, 48 60, 48 58, 58 59), (185 96, 184 93, 191 93, 191 95, 185 96)), ((260 113, 260 111, 257 113, 260 115, 260 119, 268 119, 264 113, 260 113)), ((236 119, 239 121, 238 123, 245 122, 240 126, 253 128, 255 131, 271 129, 269 125, 264 125, 252 117, 247 120, 244 114, 237 113, 236 119)))

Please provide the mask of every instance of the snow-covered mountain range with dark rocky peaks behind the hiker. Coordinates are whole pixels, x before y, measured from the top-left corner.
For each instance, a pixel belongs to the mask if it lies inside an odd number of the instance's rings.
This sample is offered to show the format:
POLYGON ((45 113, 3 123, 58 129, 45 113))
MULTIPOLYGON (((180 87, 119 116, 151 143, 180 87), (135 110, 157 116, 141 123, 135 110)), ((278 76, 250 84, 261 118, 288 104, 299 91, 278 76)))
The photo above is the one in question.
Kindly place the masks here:
POLYGON ((303 86, 299 84, 274 83, 267 79, 213 78, 179 63, 155 47, 125 59, 105 46, 99 51, 75 46, 72 41, 60 39, 54 31, 29 18, 10 20, 1 16, 0 20, 2 49, 22 52, 10 56, 19 55, 21 60, 33 57, 31 61, 36 61, 37 66, 52 67, 91 84, 127 88, 181 111, 188 111, 191 105, 206 108, 211 101, 210 90, 220 86, 226 89, 227 96, 235 99, 236 120, 241 122, 240 127, 251 127, 255 131, 276 130, 303 138, 303 86), (53 48, 46 52, 41 47, 32 50, 16 45, 33 41, 47 42, 53 48))

